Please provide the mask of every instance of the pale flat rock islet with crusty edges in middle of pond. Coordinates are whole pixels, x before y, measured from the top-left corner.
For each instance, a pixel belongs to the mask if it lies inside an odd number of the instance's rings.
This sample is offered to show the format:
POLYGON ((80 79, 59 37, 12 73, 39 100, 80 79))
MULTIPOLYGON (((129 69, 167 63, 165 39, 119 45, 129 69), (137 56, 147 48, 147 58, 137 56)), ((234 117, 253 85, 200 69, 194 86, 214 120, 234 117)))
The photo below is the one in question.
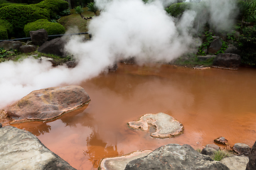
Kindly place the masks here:
POLYGON ((142 129, 149 131, 149 125, 156 128, 156 132, 151 133, 151 137, 166 138, 181 135, 183 125, 171 115, 165 113, 146 114, 139 118, 138 121, 129 122, 128 126, 132 129, 142 129))

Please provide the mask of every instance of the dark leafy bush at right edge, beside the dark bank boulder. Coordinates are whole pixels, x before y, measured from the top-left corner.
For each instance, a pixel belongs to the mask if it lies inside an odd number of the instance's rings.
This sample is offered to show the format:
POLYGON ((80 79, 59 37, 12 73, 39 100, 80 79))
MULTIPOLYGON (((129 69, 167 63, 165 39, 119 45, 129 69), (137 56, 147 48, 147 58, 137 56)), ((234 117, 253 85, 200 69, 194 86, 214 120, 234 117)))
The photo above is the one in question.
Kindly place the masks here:
POLYGON ((256 65, 256 26, 242 29, 238 38, 238 50, 244 64, 256 65))

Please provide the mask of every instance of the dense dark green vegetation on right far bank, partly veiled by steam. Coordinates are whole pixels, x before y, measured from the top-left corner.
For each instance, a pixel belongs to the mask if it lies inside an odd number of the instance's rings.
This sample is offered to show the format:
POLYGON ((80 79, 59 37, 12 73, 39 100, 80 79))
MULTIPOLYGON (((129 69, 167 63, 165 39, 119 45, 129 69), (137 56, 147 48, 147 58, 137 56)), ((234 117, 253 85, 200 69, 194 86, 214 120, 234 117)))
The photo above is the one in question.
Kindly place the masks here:
MULTIPOLYGON (((204 25, 201 28, 196 28, 197 25, 202 24, 200 15, 196 16, 194 27, 197 30, 197 33, 193 33, 193 36, 201 38, 203 40, 200 47, 198 47, 198 55, 208 55, 207 50, 210 46, 210 42, 213 42, 213 36, 218 36, 223 42, 221 49, 215 53, 223 53, 228 45, 234 45, 238 48, 238 55, 242 58, 243 64, 249 64, 251 66, 256 66, 256 0, 237 0, 234 1, 237 4, 239 14, 236 18, 236 25, 230 30, 216 30, 213 26, 210 26, 208 21, 203 23, 204 25)), ((203 16, 208 16, 210 13, 207 11, 208 6, 205 1, 198 3, 191 2, 181 2, 176 4, 171 4, 166 8, 166 12, 170 16, 175 18, 181 18, 183 12, 190 9, 201 11, 203 16), (193 8, 191 7, 193 6, 193 8)), ((193 63, 196 58, 193 60, 188 60, 186 62, 193 63)), ((176 60, 178 63, 181 63, 181 60, 176 60)), ((184 61, 183 61, 184 62, 184 61)))

